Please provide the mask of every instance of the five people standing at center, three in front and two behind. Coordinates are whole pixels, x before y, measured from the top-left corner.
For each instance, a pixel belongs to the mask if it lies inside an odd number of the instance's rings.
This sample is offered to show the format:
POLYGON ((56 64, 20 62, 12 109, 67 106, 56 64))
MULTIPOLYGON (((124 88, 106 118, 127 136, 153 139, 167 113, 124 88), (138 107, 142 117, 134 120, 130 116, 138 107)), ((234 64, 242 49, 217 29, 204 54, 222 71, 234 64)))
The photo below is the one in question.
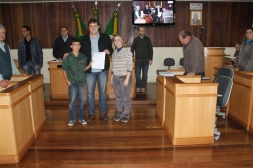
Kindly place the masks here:
MULTIPOLYGON (((88 22, 90 33, 82 36, 80 39, 68 35, 64 40, 63 32, 67 30, 65 26, 61 28, 62 37, 55 41, 53 53, 57 59, 62 59, 63 74, 68 85, 69 93, 69 126, 76 121, 75 99, 78 100, 78 121, 81 124, 87 124, 95 117, 95 87, 99 91, 99 111, 102 120, 109 120, 106 109, 106 87, 108 80, 108 71, 110 67, 109 56, 112 55, 112 74, 110 83, 114 88, 116 99, 115 121, 128 122, 131 111, 130 92, 132 87, 132 59, 135 53, 136 60, 136 86, 137 92, 145 92, 147 83, 148 66, 152 64, 153 48, 151 40, 145 36, 145 28, 138 28, 139 36, 134 39, 131 51, 124 47, 124 41, 118 34, 114 35, 112 40, 109 35, 99 32, 100 23, 91 18, 88 22), (65 43, 69 41, 71 52, 61 51, 65 43), (95 53, 104 52, 105 62, 103 69, 92 68, 93 56, 95 53), (58 54, 59 53, 59 54, 58 54), (84 75, 82 75, 83 71, 84 75), (81 72, 82 71, 82 72, 81 72), (141 77, 142 71, 142 77, 141 77), (84 119, 84 85, 87 89, 88 116, 84 119)), ((67 35, 66 35, 67 36, 67 35)), ((66 37, 65 36, 65 37, 66 37)))

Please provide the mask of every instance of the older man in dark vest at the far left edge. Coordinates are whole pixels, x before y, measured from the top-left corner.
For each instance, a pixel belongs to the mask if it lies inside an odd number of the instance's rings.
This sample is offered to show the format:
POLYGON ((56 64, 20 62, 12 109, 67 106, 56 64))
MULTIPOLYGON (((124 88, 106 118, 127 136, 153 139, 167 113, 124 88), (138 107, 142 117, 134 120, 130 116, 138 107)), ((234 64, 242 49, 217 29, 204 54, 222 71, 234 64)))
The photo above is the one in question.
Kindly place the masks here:
POLYGON ((19 71, 12 59, 9 46, 4 43, 5 27, 0 24, 0 86, 6 88, 12 75, 19 75, 19 71))

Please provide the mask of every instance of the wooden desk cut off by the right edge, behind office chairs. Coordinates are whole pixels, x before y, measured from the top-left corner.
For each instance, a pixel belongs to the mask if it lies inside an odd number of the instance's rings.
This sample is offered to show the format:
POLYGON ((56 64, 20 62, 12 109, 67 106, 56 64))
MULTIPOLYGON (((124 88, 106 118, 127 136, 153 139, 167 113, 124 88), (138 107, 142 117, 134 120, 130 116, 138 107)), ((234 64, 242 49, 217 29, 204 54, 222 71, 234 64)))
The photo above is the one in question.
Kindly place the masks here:
POLYGON ((249 130, 250 125, 252 127, 252 102, 253 72, 235 72, 228 116, 242 125, 246 130, 249 130))

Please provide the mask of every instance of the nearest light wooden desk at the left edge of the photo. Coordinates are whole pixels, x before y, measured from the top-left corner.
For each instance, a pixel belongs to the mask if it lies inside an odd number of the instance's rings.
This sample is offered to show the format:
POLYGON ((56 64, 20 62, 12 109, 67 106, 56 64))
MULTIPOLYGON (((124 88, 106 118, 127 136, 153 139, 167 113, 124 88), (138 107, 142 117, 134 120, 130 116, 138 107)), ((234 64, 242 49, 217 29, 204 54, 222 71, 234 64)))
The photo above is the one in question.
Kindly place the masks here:
POLYGON ((0 88, 0 164, 17 163, 35 139, 29 83, 0 88))

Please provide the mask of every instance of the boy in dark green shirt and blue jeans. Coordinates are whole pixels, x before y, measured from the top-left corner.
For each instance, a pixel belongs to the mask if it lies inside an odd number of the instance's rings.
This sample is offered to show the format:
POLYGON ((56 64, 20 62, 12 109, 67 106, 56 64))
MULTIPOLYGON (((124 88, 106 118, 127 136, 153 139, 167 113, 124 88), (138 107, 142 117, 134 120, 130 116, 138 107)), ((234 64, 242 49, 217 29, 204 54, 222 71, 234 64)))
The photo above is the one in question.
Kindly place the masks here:
POLYGON ((87 122, 84 120, 85 73, 83 72, 91 67, 92 61, 87 66, 87 57, 79 52, 81 44, 78 38, 71 40, 70 47, 72 52, 69 52, 68 57, 62 61, 62 71, 68 85, 69 94, 70 121, 68 125, 72 126, 76 121, 76 98, 78 100, 78 121, 84 125, 87 122))

